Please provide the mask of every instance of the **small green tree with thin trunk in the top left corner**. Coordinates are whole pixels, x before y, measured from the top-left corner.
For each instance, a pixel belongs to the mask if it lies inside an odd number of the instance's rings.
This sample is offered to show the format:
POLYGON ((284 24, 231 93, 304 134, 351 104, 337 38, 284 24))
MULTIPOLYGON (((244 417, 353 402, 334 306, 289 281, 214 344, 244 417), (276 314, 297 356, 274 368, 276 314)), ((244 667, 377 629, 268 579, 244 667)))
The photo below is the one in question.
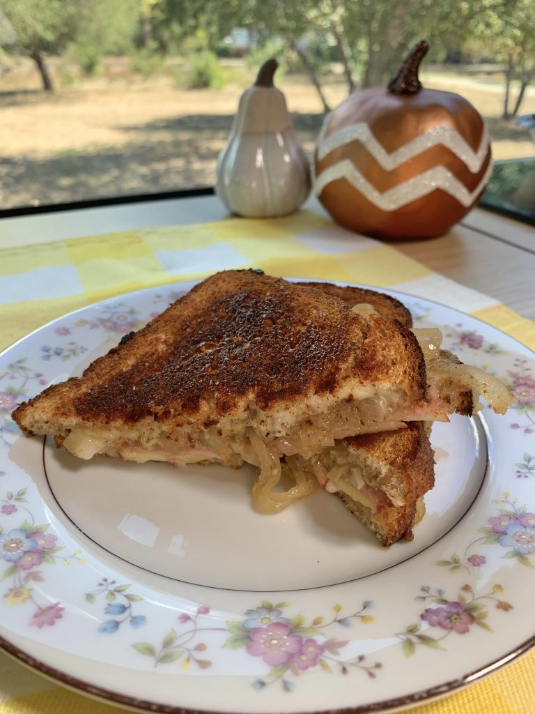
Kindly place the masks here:
POLYGON ((0 10, 16 38, 16 48, 36 63, 43 89, 53 91, 45 56, 61 49, 73 31, 76 0, 0 0, 0 10))

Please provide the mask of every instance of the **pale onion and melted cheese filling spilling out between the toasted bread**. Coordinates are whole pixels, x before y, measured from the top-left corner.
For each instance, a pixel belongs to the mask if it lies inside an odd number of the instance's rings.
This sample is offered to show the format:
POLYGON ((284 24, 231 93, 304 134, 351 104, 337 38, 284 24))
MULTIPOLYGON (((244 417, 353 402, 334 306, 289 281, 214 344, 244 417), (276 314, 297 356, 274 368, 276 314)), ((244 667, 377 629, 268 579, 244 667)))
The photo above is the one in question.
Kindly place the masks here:
MULTIPOLYGON (((268 417, 252 402, 243 418, 221 418, 212 426, 176 428, 163 431, 158 421, 114 428, 83 423, 56 436, 56 443, 74 456, 89 459, 96 454, 116 456, 124 461, 145 463, 165 461, 173 466, 190 463, 220 463, 238 468, 250 463, 260 468, 253 488, 256 508, 274 513, 323 488, 340 491, 379 513, 403 501, 370 483, 370 473, 362 471, 355 454, 335 446, 347 437, 405 428, 412 421, 448 421, 447 414, 458 408, 459 394, 469 393, 469 412, 481 408, 483 396, 495 411, 505 411, 510 397, 495 378, 478 368, 459 363, 442 351, 442 334, 437 329, 414 331, 424 354, 428 397, 410 406, 397 388, 362 388, 360 398, 330 398, 323 411, 295 415, 289 408, 268 417), (320 456, 318 456, 320 454, 320 456), (281 458, 285 464, 281 466, 281 458), (277 491, 285 471, 295 485, 277 491)), ((325 406, 325 404, 324 404, 325 406)))

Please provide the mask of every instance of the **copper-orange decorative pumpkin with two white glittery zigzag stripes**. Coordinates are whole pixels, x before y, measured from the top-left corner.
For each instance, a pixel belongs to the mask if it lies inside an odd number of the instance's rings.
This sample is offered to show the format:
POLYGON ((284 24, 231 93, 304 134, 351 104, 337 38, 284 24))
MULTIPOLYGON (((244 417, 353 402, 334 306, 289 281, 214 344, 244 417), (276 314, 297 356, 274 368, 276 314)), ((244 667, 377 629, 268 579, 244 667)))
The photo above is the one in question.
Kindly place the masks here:
POLYGON ((325 119, 315 192, 332 218, 382 238, 432 238, 474 206, 492 170, 484 121, 458 94, 423 89, 419 42, 387 89, 356 91, 325 119))

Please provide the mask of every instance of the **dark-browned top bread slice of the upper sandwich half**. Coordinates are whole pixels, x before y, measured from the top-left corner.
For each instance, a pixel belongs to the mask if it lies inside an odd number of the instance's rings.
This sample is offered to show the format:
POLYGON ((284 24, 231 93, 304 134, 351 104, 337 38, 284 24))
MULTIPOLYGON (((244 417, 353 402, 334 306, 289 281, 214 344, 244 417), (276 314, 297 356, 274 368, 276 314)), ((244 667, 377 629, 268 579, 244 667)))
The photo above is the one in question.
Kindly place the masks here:
POLYGON ((208 428, 251 407, 269 415, 363 385, 395 385, 409 403, 427 393, 409 329, 255 271, 210 276, 121 342, 82 378, 21 404, 13 416, 24 433, 143 420, 208 428))

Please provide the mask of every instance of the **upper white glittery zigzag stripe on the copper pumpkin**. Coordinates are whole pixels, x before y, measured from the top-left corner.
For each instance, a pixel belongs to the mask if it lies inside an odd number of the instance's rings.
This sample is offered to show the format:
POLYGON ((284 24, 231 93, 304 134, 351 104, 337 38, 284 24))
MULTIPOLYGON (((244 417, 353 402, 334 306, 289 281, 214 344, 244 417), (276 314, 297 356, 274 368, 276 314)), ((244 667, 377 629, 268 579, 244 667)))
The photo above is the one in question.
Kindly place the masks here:
POLYGON ((331 151, 340 149, 340 146, 345 146, 345 144, 350 144, 351 141, 358 139, 385 171, 393 171, 401 164, 404 164, 405 161, 409 161, 414 156, 421 154, 422 151, 442 144, 463 161, 469 171, 472 171, 472 174, 477 174, 481 171, 481 166, 483 166, 486 154, 489 151, 489 134, 486 128, 481 136, 477 151, 474 151, 464 141, 456 129, 451 126, 441 125, 435 126, 434 129, 426 131, 424 134, 420 134, 407 144, 400 146, 396 151, 392 151, 392 154, 389 154, 384 149, 384 146, 377 141, 370 126, 365 122, 361 121, 357 124, 345 126, 343 129, 338 129, 338 131, 334 131, 325 137, 328 121, 329 115, 323 122, 320 138, 318 139, 317 157, 320 161, 325 159, 325 156, 330 154, 331 151))

